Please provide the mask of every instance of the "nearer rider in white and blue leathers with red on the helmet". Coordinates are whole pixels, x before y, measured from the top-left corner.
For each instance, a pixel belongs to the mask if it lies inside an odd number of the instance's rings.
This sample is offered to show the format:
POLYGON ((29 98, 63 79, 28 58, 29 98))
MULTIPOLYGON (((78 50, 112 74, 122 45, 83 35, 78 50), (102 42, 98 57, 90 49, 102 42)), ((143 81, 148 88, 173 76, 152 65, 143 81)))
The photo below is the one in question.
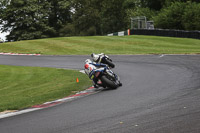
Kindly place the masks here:
POLYGON ((106 65, 105 64, 99 64, 92 62, 90 59, 85 60, 85 73, 89 76, 91 80, 93 80, 93 84, 95 88, 98 88, 99 86, 102 86, 98 83, 98 79, 94 76, 95 72, 98 70, 104 70, 106 65))

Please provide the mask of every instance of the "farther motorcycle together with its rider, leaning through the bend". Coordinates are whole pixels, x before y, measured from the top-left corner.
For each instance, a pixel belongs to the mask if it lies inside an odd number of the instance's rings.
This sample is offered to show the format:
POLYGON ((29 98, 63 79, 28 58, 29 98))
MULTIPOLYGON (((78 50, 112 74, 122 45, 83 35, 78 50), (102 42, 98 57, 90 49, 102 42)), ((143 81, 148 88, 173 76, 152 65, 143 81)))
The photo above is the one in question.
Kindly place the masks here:
POLYGON ((91 57, 92 57, 93 61, 95 61, 96 63, 107 64, 111 68, 115 67, 115 64, 113 64, 112 60, 104 53, 101 53, 101 54, 93 53, 93 54, 91 54, 91 57))

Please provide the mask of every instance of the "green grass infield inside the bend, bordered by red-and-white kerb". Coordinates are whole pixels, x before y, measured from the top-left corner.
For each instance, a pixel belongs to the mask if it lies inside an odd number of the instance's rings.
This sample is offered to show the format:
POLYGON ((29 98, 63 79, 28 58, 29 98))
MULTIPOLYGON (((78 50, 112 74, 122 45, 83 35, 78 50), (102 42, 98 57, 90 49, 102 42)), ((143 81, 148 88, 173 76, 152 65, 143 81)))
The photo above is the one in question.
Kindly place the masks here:
POLYGON ((63 98, 89 86, 89 78, 75 70, 0 65, 0 112, 63 98))

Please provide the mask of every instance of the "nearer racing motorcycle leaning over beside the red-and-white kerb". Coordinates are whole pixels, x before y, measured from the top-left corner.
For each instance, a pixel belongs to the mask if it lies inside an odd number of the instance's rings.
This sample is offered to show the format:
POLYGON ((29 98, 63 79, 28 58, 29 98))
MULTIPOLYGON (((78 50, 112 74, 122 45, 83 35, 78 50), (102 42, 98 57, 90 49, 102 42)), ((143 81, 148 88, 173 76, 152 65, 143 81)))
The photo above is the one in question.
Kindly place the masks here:
POLYGON ((119 76, 117 76, 109 67, 98 69, 94 76, 101 81, 101 86, 104 88, 116 89, 122 86, 119 76))

